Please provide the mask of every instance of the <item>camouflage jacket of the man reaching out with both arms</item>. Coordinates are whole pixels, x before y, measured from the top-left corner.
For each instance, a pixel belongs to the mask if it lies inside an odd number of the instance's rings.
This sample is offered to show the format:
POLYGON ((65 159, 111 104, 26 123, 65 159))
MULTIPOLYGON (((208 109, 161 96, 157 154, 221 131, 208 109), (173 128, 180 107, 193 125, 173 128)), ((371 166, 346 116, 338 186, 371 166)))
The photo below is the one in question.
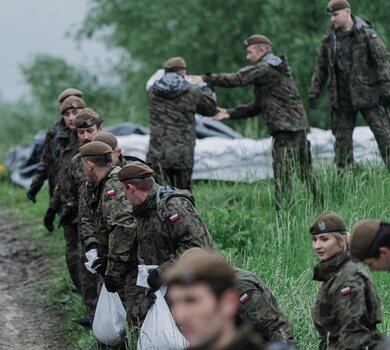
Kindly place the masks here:
POLYGON ((254 100, 228 110, 232 119, 254 117, 262 113, 271 135, 276 131, 301 131, 308 128, 306 112, 284 56, 279 58, 268 53, 256 64, 244 67, 237 73, 210 74, 203 76, 203 79, 223 87, 254 86, 254 100))

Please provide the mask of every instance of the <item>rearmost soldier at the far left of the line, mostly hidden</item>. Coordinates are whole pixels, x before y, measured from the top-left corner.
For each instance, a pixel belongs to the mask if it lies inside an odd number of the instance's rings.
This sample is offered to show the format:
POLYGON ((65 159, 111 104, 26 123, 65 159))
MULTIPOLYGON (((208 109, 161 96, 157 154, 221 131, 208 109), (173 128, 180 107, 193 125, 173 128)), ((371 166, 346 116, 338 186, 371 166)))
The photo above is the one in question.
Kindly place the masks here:
MULTIPOLYGON (((68 88, 60 93, 58 103, 61 105, 69 96, 81 97, 82 95, 83 93, 80 90, 68 88)), ((55 123, 46 131, 41 160, 38 168, 34 172, 30 188, 27 191, 27 198, 34 203, 35 196, 46 180, 49 183, 50 198, 53 195, 57 175, 58 140, 64 138, 64 134, 69 133, 70 129, 68 124, 69 122, 62 116, 59 122, 55 123)))

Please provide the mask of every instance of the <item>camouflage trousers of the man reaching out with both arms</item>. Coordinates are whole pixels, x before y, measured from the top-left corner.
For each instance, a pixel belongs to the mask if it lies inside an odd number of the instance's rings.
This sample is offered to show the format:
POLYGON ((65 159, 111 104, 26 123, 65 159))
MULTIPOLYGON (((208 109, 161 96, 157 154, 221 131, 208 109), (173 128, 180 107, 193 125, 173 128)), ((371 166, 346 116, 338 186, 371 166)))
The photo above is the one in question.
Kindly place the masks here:
POLYGON ((277 131, 273 135, 272 168, 275 182, 276 209, 288 207, 292 200, 292 177, 298 171, 315 200, 322 200, 312 169, 310 142, 304 131, 277 131))

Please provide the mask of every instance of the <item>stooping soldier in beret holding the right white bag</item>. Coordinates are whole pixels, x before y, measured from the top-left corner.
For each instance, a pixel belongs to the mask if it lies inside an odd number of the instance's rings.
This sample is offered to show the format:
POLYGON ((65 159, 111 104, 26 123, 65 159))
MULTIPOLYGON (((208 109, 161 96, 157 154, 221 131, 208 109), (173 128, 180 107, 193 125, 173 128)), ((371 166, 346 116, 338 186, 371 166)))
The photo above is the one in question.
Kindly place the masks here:
POLYGON ((191 247, 212 248, 207 228, 187 190, 163 187, 154 182, 153 170, 131 162, 118 173, 137 217, 138 260, 158 265, 149 271, 152 291, 161 286, 161 273, 191 247))

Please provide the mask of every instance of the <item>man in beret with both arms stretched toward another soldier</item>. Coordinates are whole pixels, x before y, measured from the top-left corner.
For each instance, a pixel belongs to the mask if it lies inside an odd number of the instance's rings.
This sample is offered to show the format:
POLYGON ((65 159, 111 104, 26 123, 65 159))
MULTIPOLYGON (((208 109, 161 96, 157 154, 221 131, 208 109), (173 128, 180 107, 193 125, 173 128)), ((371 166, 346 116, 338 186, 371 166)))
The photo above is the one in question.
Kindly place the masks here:
MULTIPOLYGON (((244 41, 247 59, 252 65, 237 73, 207 74, 193 77, 194 83, 205 81, 222 87, 254 86, 255 98, 250 103, 231 109, 219 109, 217 120, 241 119, 264 114, 273 137, 272 158, 277 209, 291 200, 291 179, 300 170, 314 196, 317 185, 312 173, 310 144, 306 139, 308 121, 287 58, 272 53, 271 41, 263 35, 252 35, 244 41)), ((317 198, 321 200, 321 198, 317 198)))

